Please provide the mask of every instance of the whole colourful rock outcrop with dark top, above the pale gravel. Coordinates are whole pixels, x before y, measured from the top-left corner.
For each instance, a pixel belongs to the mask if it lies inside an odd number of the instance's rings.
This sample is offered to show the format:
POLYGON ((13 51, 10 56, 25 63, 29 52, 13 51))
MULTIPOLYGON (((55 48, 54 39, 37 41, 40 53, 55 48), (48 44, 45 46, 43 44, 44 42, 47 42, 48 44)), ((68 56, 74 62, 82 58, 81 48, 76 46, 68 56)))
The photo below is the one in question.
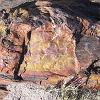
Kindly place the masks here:
POLYGON ((100 4, 14 3, 0 1, 0 77, 48 85, 72 75, 86 81, 79 84, 100 89, 100 4))

